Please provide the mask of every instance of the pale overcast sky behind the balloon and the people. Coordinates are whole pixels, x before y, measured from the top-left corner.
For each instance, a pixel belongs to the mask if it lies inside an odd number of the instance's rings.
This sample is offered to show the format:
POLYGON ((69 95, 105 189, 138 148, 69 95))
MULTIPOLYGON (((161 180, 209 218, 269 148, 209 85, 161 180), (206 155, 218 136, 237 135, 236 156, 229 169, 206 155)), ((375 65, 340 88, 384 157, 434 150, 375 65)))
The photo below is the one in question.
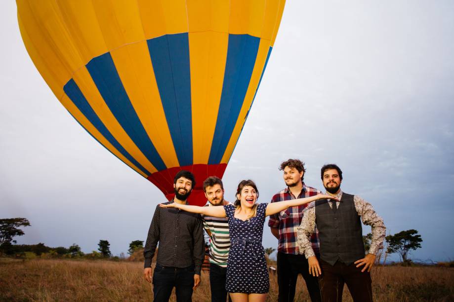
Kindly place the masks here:
MULTIPOLYGON (((89 253, 105 239, 126 253, 164 195, 61 106, 25 50, 15 2, 0 5, 0 218, 30 220, 21 244, 89 253)), ((268 202, 288 158, 322 189, 320 167, 334 162, 342 189, 371 202, 390 233, 419 231, 412 259, 453 260, 453 29, 451 0, 289 0, 226 198, 250 178, 268 202)), ((264 229, 264 247, 277 248, 264 229)))

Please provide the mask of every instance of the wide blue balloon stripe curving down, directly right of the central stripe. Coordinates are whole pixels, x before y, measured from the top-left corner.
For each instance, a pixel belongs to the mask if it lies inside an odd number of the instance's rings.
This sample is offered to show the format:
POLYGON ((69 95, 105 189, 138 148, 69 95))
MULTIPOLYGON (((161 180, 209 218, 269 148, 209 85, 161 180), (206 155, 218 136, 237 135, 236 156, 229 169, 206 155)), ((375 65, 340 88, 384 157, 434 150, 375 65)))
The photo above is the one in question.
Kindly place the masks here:
POLYGON ((227 148, 248 91, 260 38, 229 35, 221 101, 208 164, 218 164, 227 148))

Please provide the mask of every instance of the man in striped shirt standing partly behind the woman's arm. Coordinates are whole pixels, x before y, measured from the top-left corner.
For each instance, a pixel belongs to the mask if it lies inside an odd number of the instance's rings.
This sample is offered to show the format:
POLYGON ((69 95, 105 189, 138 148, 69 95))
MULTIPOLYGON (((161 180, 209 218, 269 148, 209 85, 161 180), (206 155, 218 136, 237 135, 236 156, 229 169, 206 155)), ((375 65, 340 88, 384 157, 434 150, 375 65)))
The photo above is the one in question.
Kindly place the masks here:
MULTIPOLYGON (((204 192, 208 204, 206 207, 230 204, 224 200, 224 186, 215 176, 208 177, 204 182, 204 192)), ((211 302, 225 302, 225 278, 227 274, 227 259, 229 258, 230 235, 227 218, 208 217, 202 215, 206 233, 210 238, 209 245, 209 284, 211 302)), ((229 297, 229 301, 230 297, 229 297)))

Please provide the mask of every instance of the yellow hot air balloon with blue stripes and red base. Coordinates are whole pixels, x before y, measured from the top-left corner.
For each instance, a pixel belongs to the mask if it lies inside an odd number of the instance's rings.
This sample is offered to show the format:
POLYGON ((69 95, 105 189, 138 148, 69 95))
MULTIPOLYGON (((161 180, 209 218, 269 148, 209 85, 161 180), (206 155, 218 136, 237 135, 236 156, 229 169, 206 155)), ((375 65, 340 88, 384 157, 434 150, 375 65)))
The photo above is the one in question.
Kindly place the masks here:
POLYGON ((222 177, 284 0, 17 0, 25 47, 100 144, 170 200, 173 177, 222 177))

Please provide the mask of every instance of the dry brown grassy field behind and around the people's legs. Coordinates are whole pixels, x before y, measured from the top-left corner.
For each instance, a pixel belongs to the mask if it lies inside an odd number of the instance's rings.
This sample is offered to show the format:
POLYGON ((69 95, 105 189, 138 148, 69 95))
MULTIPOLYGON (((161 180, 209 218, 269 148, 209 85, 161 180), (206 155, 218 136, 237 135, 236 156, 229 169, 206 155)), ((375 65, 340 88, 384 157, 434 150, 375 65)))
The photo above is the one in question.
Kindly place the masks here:
MULTIPOLYGON (((151 301, 141 262, 0 259, 0 301, 151 301)), ((208 274, 193 301, 210 301, 208 274)), ((277 301, 276 276, 267 301, 277 301)), ((454 268, 378 266, 372 270, 375 301, 454 301, 454 268)), ((347 288, 343 301, 352 301, 347 288)), ((175 301, 172 297, 171 301, 175 301)), ((308 300, 298 280, 295 301, 308 300)))

